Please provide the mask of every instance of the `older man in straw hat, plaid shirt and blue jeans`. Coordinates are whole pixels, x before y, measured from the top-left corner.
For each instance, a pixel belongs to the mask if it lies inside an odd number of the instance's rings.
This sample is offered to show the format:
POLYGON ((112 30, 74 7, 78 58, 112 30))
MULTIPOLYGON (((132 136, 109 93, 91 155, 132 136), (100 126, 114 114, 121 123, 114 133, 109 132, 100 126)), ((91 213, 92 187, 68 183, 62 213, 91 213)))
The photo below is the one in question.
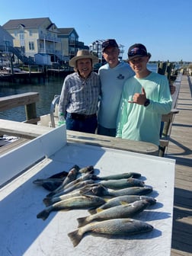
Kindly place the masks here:
POLYGON ((66 76, 59 100, 59 112, 66 117, 67 130, 95 133, 101 90, 99 76, 93 72, 96 63, 98 57, 88 50, 78 50, 69 61, 75 72, 66 76))

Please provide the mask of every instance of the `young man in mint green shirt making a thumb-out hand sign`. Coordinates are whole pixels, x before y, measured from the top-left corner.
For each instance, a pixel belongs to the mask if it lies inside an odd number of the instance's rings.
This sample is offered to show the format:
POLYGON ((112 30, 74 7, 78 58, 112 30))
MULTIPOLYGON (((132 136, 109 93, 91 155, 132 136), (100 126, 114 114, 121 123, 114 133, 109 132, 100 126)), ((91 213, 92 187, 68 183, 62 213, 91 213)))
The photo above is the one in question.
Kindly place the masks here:
POLYGON ((128 78, 123 86, 117 137, 159 146, 162 114, 171 111, 172 99, 168 78, 147 69, 150 57, 141 43, 130 46, 128 61, 136 75, 128 78))

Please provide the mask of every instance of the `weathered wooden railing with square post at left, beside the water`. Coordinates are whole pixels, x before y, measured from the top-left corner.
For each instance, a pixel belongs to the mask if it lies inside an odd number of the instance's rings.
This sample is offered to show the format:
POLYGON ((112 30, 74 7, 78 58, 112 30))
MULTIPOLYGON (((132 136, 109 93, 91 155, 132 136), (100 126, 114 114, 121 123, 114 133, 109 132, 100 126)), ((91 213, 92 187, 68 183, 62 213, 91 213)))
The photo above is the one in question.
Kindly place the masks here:
POLYGON ((37 117, 36 102, 39 101, 38 92, 26 92, 24 94, 15 94, 0 98, 0 111, 9 110, 14 107, 24 106, 26 121, 25 123, 34 123, 40 120, 37 117))

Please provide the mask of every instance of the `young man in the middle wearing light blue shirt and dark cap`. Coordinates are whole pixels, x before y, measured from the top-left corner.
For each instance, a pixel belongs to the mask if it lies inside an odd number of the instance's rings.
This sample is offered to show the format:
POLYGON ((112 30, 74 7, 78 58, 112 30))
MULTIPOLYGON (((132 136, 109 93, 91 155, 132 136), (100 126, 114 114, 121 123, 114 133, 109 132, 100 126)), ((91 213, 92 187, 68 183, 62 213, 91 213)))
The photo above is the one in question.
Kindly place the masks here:
POLYGON ((119 60, 120 49, 116 40, 105 40, 102 43, 102 52, 107 63, 98 71, 101 80, 98 134, 115 137, 123 84, 135 73, 128 63, 119 60))

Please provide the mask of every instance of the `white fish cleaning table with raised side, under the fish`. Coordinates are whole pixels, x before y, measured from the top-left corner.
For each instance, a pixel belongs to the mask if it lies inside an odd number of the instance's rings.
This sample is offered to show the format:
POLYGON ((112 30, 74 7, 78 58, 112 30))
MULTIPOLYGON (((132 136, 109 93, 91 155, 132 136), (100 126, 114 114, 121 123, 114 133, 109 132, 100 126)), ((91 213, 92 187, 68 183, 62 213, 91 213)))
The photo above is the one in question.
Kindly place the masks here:
POLYGON ((6 183, 0 190, 0 255, 170 255, 174 160, 66 142, 65 126, 61 126, 2 155, 0 165, 0 181, 6 183), (52 212, 45 221, 37 219, 48 191, 33 181, 69 171, 72 165, 94 165, 101 176, 141 173, 146 185, 153 187, 149 195, 157 203, 134 218, 148 222, 154 230, 115 239, 85 235, 74 248, 67 234, 77 229, 77 218, 88 216, 87 210, 52 212))

